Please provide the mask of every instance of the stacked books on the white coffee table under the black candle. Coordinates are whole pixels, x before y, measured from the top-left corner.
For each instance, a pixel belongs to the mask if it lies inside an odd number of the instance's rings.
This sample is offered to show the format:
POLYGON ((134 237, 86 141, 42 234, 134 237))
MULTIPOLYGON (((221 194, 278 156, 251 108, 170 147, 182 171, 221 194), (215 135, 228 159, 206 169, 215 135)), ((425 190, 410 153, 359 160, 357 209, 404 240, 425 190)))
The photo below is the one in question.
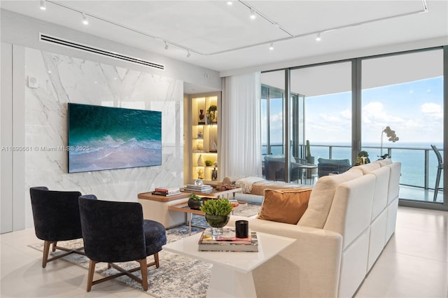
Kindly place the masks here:
POLYGON ((248 238, 237 238, 235 229, 223 229, 223 234, 213 236, 210 229, 202 232, 199 240, 200 251, 243 251, 258 252, 257 233, 249 233, 248 238))

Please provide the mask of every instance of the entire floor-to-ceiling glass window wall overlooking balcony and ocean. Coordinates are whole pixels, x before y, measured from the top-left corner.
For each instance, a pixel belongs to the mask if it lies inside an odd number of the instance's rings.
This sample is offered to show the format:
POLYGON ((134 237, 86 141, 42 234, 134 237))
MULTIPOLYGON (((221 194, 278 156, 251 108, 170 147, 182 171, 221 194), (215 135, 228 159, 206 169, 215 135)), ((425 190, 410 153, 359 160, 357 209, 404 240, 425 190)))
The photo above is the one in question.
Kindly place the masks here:
MULTIPOLYGON (((263 73, 262 83, 279 89, 283 105, 288 94, 284 90, 304 94, 298 100, 302 113, 289 113, 290 122, 283 121, 283 132, 276 135, 285 143, 284 136, 301 129, 300 144, 310 141, 316 164, 319 157, 350 159, 354 164, 361 150, 372 161, 391 157, 402 162, 402 204, 446 210, 446 178, 443 169, 437 174, 440 159, 431 145, 442 159, 446 156, 447 58, 445 46, 263 73)), ((293 101, 286 111, 290 106, 293 101)), ((276 115, 284 118, 284 106, 281 111, 276 115)), ((303 157, 302 148, 299 152, 303 157)))

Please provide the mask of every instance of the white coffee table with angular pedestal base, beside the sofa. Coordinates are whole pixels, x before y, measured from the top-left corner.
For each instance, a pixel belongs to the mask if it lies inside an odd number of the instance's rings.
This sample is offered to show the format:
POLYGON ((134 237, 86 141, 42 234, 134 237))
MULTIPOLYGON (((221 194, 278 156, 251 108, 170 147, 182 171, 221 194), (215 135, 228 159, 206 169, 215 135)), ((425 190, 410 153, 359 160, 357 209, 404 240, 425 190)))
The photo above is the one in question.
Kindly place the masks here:
MULTIPOLYGON (((164 250, 213 264, 207 297, 257 297, 252 271, 295 239, 257 232, 258 253, 199 251, 201 233, 163 246, 164 250)), ((275 274, 272 272, 272 274, 275 274)))

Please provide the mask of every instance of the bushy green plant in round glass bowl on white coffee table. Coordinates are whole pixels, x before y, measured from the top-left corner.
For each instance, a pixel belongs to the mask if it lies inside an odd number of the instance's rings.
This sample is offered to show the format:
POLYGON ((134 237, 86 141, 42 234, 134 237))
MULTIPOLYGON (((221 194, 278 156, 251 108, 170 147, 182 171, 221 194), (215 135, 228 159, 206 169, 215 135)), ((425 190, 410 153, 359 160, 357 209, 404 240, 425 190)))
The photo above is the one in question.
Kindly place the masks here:
POLYGON ((229 222, 232 208, 228 199, 220 198, 204 201, 201 211, 205 213, 205 220, 211 227, 212 235, 223 234, 223 227, 229 222))

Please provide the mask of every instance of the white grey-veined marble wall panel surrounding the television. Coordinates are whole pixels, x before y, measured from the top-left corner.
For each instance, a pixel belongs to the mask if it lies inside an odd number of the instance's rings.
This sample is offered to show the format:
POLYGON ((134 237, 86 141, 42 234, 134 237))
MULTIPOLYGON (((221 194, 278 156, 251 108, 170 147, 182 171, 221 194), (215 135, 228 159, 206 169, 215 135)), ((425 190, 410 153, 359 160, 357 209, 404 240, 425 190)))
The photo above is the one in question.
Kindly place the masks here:
MULTIPOLYGON (((137 201, 139 192, 156 185, 183 184, 181 80, 31 48, 25 50, 25 63, 25 192, 45 185, 99 199, 137 201), (30 84, 33 78, 38 87, 30 84), (59 148, 68 143, 69 102, 161 111, 162 165, 68 173, 68 153, 59 148)), ((30 207, 27 213, 29 218, 30 207)))

